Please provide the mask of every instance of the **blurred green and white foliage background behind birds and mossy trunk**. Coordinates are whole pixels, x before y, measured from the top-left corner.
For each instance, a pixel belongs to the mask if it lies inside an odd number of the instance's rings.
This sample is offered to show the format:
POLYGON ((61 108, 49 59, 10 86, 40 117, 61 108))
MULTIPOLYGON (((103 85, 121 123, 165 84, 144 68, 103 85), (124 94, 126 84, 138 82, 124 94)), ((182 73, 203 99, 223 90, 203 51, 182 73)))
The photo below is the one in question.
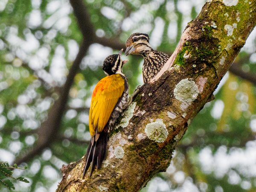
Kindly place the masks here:
MULTIPOLYGON (((91 94, 105 77, 108 55, 125 48, 133 32, 148 33, 151 47, 171 54, 204 3, 0 0, 0 160, 29 167, 15 170, 15 177, 30 181, 13 180, 15 191, 54 192, 62 164, 86 153, 91 94), (79 55, 81 44, 87 45, 79 55)), ((129 59, 123 71, 131 94, 143 84, 143 57, 123 59, 129 59)), ((216 99, 177 145, 167 171, 141 192, 256 191, 255 84, 256 30, 215 90, 216 99)), ((0 185, 0 191, 9 190, 0 185)))

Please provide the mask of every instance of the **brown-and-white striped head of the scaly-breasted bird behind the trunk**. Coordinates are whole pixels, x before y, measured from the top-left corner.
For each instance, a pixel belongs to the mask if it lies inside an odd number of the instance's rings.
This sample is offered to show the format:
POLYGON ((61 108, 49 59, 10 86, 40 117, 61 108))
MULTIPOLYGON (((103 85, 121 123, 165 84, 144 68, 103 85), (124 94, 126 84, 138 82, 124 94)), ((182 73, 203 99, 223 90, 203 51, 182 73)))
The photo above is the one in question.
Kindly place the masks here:
POLYGON ((129 54, 140 54, 144 55, 147 50, 151 50, 149 45, 148 34, 145 33, 134 33, 132 34, 125 43, 126 50, 125 56, 129 54))

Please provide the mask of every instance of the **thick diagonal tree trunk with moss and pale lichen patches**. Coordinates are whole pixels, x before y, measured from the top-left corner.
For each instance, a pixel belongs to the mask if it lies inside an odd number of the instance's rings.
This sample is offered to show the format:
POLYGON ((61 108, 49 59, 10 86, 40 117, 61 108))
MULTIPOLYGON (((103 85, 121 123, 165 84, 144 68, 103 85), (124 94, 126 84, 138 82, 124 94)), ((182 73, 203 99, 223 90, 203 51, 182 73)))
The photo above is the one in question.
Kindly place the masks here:
POLYGON ((166 171, 175 146, 255 25, 256 1, 208 0, 160 75, 140 88, 117 120, 102 168, 82 180, 84 157, 63 166, 56 192, 137 192, 166 171))

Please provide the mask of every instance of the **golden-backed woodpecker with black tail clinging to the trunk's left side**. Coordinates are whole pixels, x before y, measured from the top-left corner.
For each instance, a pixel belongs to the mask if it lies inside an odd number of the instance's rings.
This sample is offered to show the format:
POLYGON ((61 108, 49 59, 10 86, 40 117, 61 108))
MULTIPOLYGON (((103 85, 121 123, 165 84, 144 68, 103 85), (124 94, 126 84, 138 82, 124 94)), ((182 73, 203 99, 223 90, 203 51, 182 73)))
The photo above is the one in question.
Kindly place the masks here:
POLYGON ((122 73, 122 66, 128 60, 122 61, 122 50, 105 59, 102 69, 107 76, 100 80, 93 90, 89 111, 91 140, 86 152, 82 178, 91 162, 90 176, 95 166, 97 170, 102 166, 113 125, 127 106, 128 82, 127 77, 122 73))

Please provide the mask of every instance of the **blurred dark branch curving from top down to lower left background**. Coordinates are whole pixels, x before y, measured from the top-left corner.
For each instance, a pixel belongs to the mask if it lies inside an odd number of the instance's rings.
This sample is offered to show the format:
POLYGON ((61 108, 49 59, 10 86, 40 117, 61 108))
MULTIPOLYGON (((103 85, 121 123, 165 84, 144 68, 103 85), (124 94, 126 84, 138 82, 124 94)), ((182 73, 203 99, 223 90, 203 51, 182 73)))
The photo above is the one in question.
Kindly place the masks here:
POLYGON ((63 87, 61 87, 60 96, 57 101, 53 104, 52 108, 48 113, 48 118, 45 122, 42 123, 41 127, 38 128, 38 141, 36 147, 30 151, 28 154, 24 155, 23 157, 15 160, 15 163, 20 164, 22 162, 27 162, 28 160, 32 159, 35 155, 38 155, 44 150, 44 148, 49 147, 57 138, 58 131, 60 130, 61 125, 61 118, 63 113, 66 109, 67 100, 70 88, 73 84, 74 77, 79 70, 79 64, 81 63, 82 58, 84 58, 89 46, 93 43, 93 37, 95 32, 93 30, 93 26, 90 23, 90 18, 85 9, 81 9, 77 6, 76 2, 82 3, 81 0, 70 0, 71 5, 73 6, 74 10, 79 11, 75 12, 76 17, 85 18, 85 22, 83 25, 79 23, 80 29, 84 35, 84 40, 81 44, 79 52, 76 56, 75 61, 73 62, 72 67, 69 70, 69 74, 67 76, 67 80, 63 87), (84 27, 87 26, 87 27, 84 27))

